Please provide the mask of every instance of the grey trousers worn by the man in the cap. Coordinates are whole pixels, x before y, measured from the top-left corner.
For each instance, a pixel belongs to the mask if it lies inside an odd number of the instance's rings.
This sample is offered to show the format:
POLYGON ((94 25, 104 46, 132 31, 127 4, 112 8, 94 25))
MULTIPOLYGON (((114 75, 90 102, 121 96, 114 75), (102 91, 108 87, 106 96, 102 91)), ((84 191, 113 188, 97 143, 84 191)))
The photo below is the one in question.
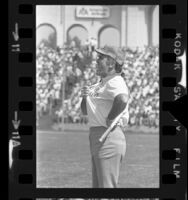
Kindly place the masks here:
POLYGON ((119 126, 110 132, 104 142, 99 142, 106 129, 103 126, 90 128, 93 188, 117 188, 120 166, 125 156, 126 140, 119 126))

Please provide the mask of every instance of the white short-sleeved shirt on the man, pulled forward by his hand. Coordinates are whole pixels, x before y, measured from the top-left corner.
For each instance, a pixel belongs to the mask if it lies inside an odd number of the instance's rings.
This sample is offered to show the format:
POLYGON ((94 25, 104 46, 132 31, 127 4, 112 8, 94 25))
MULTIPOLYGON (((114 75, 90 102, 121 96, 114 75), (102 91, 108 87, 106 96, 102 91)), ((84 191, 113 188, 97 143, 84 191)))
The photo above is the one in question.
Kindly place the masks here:
MULTIPOLYGON (((106 118, 112 108, 114 98, 119 94, 129 96, 127 85, 120 74, 108 76, 102 79, 100 83, 90 87, 86 104, 90 127, 106 127, 106 118)), ((129 116, 128 104, 124 116, 129 116)))

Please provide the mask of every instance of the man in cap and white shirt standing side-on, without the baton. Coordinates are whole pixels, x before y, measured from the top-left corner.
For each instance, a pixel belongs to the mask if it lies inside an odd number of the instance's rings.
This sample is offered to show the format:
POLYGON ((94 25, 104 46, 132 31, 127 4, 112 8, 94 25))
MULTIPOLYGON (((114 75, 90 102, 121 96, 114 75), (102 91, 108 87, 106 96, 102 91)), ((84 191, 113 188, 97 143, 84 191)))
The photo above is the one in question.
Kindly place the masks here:
POLYGON ((116 188, 126 151, 125 135, 116 125, 103 142, 99 142, 99 138, 125 109, 124 119, 128 121, 129 91, 121 77, 124 55, 112 46, 95 51, 98 54, 96 75, 101 77, 101 81, 82 89, 81 102, 82 112, 88 115, 90 126, 92 184, 94 188, 116 188))

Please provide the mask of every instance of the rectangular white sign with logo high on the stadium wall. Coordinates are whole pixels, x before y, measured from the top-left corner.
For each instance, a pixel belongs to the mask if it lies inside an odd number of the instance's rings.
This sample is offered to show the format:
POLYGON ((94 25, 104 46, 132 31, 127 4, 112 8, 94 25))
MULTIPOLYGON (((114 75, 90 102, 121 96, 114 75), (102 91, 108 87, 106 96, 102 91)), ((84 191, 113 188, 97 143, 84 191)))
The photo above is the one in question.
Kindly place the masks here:
POLYGON ((108 18, 110 9, 106 6, 77 6, 76 17, 78 18, 108 18))

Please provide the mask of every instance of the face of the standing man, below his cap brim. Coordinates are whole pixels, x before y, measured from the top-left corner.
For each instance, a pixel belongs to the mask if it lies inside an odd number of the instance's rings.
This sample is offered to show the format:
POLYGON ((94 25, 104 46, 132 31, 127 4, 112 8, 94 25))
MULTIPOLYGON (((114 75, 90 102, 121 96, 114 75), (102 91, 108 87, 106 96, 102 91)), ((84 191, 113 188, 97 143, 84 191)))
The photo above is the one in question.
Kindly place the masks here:
POLYGON ((108 56, 98 54, 97 55, 97 67, 96 75, 101 77, 106 77, 112 71, 112 66, 110 65, 110 58, 108 56))

